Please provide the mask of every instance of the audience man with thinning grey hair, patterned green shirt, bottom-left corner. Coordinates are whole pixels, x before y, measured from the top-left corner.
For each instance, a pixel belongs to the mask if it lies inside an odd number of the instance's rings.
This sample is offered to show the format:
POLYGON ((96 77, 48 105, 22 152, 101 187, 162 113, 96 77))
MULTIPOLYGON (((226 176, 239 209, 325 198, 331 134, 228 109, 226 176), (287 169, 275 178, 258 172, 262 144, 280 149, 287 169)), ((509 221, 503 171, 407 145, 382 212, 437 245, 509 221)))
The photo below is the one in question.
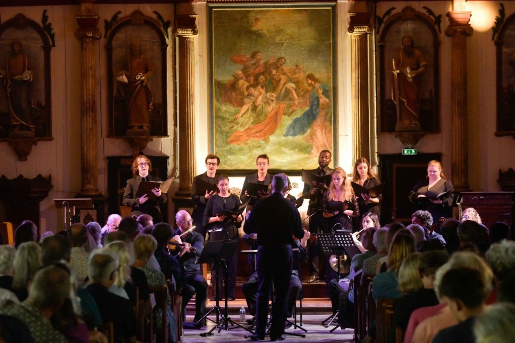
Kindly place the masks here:
POLYGON ((3 301, 0 303, 0 314, 23 321, 36 343, 66 343, 66 338, 52 327, 49 319, 68 296, 70 276, 60 267, 44 267, 34 276, 27 300, 21 304, 3 301))

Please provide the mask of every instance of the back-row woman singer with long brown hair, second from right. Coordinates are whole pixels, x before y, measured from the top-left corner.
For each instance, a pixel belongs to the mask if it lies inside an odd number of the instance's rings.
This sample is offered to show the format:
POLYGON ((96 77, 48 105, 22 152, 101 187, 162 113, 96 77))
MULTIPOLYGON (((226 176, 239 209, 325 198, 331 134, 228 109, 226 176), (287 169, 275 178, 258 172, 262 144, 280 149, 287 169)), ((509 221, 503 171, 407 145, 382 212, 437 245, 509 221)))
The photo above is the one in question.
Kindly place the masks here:
MULTIPOLYGON (((358 158, 354 163, 354 172, 352 173, 352 181, 356 184, 370 189, 381 184, 381 181, 377 179, 374 172, 370 169, 370 164, 365 157, 358 158)), ((367 194, 357 194, 359 210, 362 214, 372 212, 377 215, 377 218, 381 218, 380 214, 380 203, 382 195, 379 194, 377 197, 370 197, 367 194)))

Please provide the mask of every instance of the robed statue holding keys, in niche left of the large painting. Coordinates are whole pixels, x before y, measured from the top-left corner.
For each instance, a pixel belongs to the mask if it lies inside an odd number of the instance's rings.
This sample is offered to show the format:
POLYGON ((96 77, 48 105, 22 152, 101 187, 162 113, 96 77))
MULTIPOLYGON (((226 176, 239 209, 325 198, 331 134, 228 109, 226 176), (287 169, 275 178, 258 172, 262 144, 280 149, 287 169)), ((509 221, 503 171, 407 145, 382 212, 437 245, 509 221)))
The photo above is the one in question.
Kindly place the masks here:
POLYGON ((127 136, 147 136, 150 134, 149 118, 152 111, 152 93, 147 80, 152 77, 155 69, 141 51, 138 39, 130 42, 130 56, 125 68, 119 71, 116 80, 129 120, 127 136))

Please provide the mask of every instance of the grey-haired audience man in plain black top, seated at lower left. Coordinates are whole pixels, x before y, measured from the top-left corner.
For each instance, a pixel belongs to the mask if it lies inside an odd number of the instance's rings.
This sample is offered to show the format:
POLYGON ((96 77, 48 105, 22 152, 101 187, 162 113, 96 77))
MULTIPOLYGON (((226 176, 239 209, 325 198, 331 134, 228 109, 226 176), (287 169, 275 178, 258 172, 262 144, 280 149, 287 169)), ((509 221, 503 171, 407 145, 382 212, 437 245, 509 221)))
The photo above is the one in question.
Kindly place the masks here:
POLYGON ((102 322, 113 323, 115 342, 136 342, 136 317, 129 300, 109 292, 118 268, 118 255, 111 249, 92 252, 88 264, 91 293, 100 311, 102 322))

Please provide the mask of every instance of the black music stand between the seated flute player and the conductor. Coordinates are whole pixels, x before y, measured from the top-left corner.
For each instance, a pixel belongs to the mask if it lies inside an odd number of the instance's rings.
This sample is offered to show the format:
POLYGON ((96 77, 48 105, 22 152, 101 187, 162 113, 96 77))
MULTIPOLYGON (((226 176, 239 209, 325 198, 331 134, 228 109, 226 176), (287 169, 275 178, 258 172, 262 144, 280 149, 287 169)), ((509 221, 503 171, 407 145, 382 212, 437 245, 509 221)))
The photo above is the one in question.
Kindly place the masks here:
MULTIPOLYGON (((204 248, 202 249, 202 254, 200 254, 200 258, 199 258, 199 263, 213 263, 213 268, 211 270, 218 270, 218 272, 216 273, 216 276, 215 276, 215 278, 216 278, 215 287, 217 287, 217 285, 218 285, 218 275, 219 275, 220 269, 223 271, 224 280, 227 285, 227 281, 228 281, 227 275, 229 272, 227 261, 229 261, 231 259, 232 255, 236 251, 237 246, 238 246, 238 241, 236 241, 236 240, 233 240, 233 241, 208 241, 205 244, 204 248), (205 251, 205 254, 204 254, 204 251, 205 251)), ((209 319, 211 321, 214 321, 214 320, 208 318, 208 315, 211 312, 216 311, 216 320, 217 321, 215 322, 215 326, 208 332, 201 333, 200 336, 202 336, 202 337, 211 336, 211 335, 213 335, 213 331, 216 329, 218 329, 218 333, 220 333, 222 328, 225 330, 230 330, 229 323, 231 323, 232 326, 236 325, 237 327, 245 329, 252 334, 254 333, 250 329, 247 329, 244 326, 240 325, 239 323, 235 322, 234 320, 231 319, 231 317, 229 317, 227 315, 227 297, 228 297, 227 292, 228 292, 228 290, 227 290, 227 286, 226 286, 225 287, 225 301, 224 301, 225 309, 224 309, 223 314, 222 314, 222 311, 221 311, 221 308, 219 305, 219 299, 217 296, 215 296, 216 305, 214 306, 214 308, 209 310, 208 313, 206 313, 202 318, 200 318, 197 321, 197 322, 201 322, 203 319, 209 319), (220 318, 220 319, 218 319, 218 318, 220 318)), ((215 295, 216 294, 217 294, 217 290, 215 288, 215 295)), ((231 328, 231 329, 235 329, 235 328, 236 327, 231 328)))

